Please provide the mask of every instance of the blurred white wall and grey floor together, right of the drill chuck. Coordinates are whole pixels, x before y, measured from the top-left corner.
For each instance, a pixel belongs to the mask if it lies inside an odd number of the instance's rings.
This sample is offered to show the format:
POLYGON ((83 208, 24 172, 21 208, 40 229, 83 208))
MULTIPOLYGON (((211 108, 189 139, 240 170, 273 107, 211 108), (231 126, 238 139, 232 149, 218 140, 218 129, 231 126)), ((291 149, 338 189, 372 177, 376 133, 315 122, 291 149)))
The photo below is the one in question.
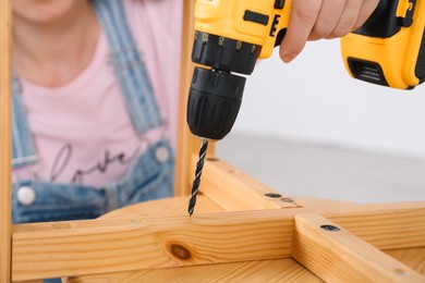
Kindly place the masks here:
POLYGON ((425 200, 425 85, 352 78, 339 39, 292 63, 258 62, 217 155, 284 195, 355 202, 425 200))

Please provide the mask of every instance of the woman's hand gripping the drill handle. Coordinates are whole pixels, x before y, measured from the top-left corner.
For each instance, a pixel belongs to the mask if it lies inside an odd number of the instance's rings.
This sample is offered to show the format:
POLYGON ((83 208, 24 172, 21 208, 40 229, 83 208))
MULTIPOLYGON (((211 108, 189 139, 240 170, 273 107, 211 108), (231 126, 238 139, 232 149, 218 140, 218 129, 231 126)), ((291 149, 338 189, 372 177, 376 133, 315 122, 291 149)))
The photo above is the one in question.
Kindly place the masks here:
POLYGON ((280 58, 291 62, 307 40, 342 37, 366 22, 379 0, 293 0, 280 58))

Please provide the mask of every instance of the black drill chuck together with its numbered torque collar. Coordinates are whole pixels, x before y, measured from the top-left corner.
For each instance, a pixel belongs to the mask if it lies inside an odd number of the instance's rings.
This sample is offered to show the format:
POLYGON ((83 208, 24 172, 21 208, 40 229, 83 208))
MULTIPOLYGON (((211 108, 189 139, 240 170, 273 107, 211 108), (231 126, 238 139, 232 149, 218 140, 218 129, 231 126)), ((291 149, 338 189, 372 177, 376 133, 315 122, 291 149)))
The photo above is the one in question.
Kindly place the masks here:
POLYGON ((232 128, 242 102, 245 77, 258 58, 259 46, 196 32, 192 61, 195 67, 187 101, 187 124, 197 137, 222 139, 232 128))

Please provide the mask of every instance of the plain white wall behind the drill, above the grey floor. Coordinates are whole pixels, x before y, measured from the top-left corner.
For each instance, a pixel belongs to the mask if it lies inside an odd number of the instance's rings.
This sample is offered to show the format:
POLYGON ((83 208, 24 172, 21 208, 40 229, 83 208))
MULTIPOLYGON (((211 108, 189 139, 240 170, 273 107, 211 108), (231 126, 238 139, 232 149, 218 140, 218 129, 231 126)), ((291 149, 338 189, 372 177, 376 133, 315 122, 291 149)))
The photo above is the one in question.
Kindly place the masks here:
POLYGON ((425 84, 354 79, 339 48, 339 39, 312 41, 290 64, 276 48, 247 76, 232 133, 425 158, 425 84))

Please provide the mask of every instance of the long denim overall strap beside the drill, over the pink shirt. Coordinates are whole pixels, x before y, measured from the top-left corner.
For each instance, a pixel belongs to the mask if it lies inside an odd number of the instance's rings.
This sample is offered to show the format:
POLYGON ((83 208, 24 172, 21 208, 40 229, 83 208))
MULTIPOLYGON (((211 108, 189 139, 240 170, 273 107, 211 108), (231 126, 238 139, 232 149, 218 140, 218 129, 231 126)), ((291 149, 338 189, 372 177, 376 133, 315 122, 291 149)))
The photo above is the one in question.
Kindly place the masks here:
POLYGON ((94 0, 93 4, 107 36, 111 64, 134 127, 143 134, 160 126, 162 119, 154 88, 132 36, 122 1, 94 0))

